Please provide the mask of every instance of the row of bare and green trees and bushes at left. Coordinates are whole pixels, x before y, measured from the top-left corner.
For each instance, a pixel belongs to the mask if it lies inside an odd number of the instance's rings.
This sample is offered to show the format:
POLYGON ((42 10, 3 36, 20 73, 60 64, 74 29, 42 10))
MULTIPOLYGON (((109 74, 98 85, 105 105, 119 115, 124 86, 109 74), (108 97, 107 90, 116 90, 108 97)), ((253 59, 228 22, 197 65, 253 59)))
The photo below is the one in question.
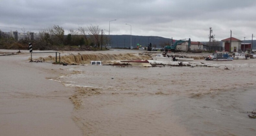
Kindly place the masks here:
MULTIPOLYGON (((64 28, 60 27, 59 25, 53 25, 48 28, 41 29, 36 35, 29 38, 29 31, 26 29, 21 29, 23 33, 28 33, 28 37, 25 37, 24 40, 28 42, 37 41, 37 42, 46 42, 50 45, 55 46, 91 46, 93 48, 100 48, 101 43, 104 48, 106 48, 108 44, 108 37, 103 33, 101 35, 101 29, 98 26, 88 26, 78 27, 77 29, 70 29, 68 35, 64 35, 64 28)), ((0 39, 3 40, 16 40, 13 36, 12 32, 2 32, 0 30, 0 39)))

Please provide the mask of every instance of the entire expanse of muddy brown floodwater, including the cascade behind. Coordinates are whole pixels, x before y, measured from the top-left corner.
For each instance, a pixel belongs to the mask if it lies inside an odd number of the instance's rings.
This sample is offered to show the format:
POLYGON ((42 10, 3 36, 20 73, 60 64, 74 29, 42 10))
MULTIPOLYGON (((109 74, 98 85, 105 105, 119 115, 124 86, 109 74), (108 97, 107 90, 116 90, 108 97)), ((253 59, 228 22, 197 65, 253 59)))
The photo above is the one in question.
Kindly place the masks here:
MULTIPOLYGON (((61 60, 150 58, 123 52, 61 60)), ((121 67, 28 63, 29 57, 1 57, 3 135, 256 135, 256 119, 248 117, 256 110, 256 59, 121 67)))

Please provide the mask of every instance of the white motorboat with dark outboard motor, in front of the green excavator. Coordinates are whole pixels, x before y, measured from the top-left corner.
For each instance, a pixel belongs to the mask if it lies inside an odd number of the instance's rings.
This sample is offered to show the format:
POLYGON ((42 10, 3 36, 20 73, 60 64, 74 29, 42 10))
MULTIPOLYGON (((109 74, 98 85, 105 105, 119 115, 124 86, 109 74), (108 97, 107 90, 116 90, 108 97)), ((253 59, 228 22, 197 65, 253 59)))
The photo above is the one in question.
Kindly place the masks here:
POLYGON ((169 52, 162 52, 162 54, 157 54, 156 57, 152 57, 155 61, 193 61, 194 58, 176 58, 169 52))

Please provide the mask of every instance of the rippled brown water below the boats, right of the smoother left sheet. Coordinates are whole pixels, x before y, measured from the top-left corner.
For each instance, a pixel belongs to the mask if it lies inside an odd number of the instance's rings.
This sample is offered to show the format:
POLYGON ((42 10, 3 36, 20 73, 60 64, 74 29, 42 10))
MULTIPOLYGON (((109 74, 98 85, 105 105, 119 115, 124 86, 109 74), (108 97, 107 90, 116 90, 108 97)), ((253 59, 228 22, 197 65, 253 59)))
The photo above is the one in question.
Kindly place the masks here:
POLYGON ((256 110, 256 60, 238 61, 68 66, 72 74, 50 80, 76 88, 72 115, 84 135, 256 135, 247 113, 256 110))

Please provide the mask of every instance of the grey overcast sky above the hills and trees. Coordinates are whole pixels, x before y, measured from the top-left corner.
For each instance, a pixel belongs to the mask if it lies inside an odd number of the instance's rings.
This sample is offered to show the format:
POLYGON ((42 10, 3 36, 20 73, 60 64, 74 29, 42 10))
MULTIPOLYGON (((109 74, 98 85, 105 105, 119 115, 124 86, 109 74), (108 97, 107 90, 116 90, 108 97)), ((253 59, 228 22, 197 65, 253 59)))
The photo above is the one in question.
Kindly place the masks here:
POLYGON ((251 40, 256 0, 0 0, 2 31, 59 25, 68 34, 90 25, 109 30, 109 23, 111 35, 130 35, 130 24, 132 35, 208 41, 212 27, 216 40, 229 38, 230 30, 251 40))

